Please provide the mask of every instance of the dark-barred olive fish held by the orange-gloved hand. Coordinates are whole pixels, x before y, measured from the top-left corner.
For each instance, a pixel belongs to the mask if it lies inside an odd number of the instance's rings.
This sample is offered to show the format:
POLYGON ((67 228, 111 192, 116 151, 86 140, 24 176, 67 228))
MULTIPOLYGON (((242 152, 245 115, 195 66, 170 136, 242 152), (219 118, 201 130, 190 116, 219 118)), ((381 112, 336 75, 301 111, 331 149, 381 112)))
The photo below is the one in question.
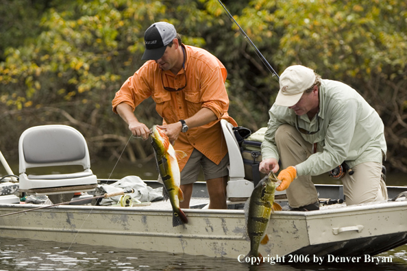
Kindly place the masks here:
POLYGON ((274 202, 278 179, 273 172, 264 177, 245 205, 247 233, 250 237, 250 252, 246 257, 262 257, 258 252, 260 244, 267 244, 269 237, 265 234, 271 211, 281 211, 281 206, 274 202))

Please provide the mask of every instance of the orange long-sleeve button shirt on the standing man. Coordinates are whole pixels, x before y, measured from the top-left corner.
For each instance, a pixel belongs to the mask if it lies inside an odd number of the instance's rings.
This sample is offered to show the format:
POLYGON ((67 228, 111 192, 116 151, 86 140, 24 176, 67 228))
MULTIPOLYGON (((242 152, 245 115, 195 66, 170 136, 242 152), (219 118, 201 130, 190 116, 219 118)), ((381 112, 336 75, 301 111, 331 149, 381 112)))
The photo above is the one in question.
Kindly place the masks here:
POLYGON ((182 47, 186 51, 185 69, 174 75, 169 70, 161 70, 155 61, 147 61, 123 83, 112 101, 113 112, 117 113, 116 106, 119 103, 127 103, 134 110, 151 96, 164 124, 190 118, 202 107, 214 112, 217 120, 201 127, 190 128, 186 133, 180 133, 175 141, 174 149, 187 154, 187 158, 179 163, 180 170, 184 168, 194 148, 212 162, 219 164, 227 153, 220 120, 223 118, 237 126, 234 119, 227 114, 229 99, 225 89, 225 66, 204 49, 184 44, 182 47), (164 86, 175 89, 185 85, 186 87, 177 92, 169 92, 164 90, 163 83, 164 86))

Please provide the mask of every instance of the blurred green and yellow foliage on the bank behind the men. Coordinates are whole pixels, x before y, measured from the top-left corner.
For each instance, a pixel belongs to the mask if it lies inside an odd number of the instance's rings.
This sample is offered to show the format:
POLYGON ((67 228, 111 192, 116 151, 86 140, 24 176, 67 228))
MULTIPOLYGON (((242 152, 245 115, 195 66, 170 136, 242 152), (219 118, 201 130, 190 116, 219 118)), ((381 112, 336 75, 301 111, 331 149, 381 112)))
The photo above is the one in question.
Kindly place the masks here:
MULTIPOLYGON (((277 73, 292 64, 354 87, 384 120, 390 170, 407 172, 405 0, 223 1, 277 73)), ((28 127, 71 125, 93 159, 116 159, 130 137, 111 101, 143 64, 143 34, 169 21, 185 44, 228 70, 230 115, 253 131, 267 125, 277 80, 217 0, 0 0, 0 150, 18 157, 28 127)), ((160 123, 151 99, 136 109, 160 123)), ((130 140, 122 159, 151 158, 130 140)))

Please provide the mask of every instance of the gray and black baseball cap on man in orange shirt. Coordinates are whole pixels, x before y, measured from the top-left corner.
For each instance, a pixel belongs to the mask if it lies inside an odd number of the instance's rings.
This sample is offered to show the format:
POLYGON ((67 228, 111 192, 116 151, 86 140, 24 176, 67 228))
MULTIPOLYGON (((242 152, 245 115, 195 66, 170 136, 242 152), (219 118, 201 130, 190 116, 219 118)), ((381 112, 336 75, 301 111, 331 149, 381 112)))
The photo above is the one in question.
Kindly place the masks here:
POLYGON ((177 36, 171 23, 153 23, 144 34, 145 52, 142 60, 158 60, 164 55, 167 45, 177 36))

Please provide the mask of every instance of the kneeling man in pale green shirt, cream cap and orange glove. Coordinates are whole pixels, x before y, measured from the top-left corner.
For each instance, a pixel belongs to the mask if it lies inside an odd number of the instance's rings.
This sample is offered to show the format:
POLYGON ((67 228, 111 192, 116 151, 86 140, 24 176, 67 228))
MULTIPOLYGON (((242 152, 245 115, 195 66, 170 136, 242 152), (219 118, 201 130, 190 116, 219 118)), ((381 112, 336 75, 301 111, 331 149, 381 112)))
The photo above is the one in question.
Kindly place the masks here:
POLYGON ((290 66, 280 77, 280 91, 269 114, 260 171, 277 172, 281 159, 284 170, 278 175, 282 183, 277 190, 287 189, 291 208, 319 209, 311 176, 343 162, 354 170, 354 175, 342 179, 347 205, 387 198, 382 179, 384 125, 356 90, 321 79, 310 68, 290 66))

